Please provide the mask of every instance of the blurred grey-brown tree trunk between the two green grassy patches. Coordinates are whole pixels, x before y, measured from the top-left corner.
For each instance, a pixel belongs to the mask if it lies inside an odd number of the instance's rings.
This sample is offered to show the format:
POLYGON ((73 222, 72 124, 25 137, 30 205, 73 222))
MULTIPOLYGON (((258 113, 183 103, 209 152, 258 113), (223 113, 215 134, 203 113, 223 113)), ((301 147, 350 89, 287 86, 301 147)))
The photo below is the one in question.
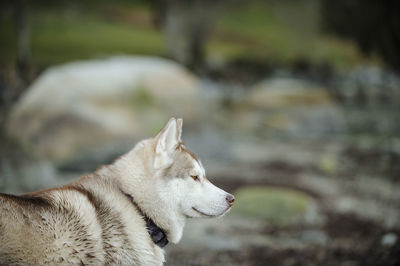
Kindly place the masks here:
POLYGON ((164 31, 168 55, 192 69, 201 69, 221 3, 221 0, 153 0, 155 22, 164 31))

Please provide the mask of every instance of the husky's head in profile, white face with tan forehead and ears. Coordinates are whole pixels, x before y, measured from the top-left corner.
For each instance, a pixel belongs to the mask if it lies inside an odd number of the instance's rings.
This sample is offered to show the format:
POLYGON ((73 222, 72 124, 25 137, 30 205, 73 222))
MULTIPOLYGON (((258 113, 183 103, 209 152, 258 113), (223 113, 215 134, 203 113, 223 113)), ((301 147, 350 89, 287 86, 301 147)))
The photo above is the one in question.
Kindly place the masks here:
POLYGON ((235 198, 213 185, 202 163, 181 140, 182 119, 171 118, 154 138, 153 168, 159 194, 178 216, 218 217, 226 214, 235 198))

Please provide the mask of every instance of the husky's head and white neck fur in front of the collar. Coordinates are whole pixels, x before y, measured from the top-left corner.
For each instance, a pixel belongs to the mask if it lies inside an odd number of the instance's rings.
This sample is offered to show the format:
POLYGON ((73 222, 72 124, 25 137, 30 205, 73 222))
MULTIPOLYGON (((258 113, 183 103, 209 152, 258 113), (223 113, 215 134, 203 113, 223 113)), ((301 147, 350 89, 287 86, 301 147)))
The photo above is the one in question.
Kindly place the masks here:
POLYGON ((186 218, 222 216, 230 209, 229 194, 206 179, 201 162, 176 149, 181 134, 182 119, 171 118, 155 138, 138 143, 115 165, 121 169, 118 182, 124 192, 173 243, 181 239, 186 218))

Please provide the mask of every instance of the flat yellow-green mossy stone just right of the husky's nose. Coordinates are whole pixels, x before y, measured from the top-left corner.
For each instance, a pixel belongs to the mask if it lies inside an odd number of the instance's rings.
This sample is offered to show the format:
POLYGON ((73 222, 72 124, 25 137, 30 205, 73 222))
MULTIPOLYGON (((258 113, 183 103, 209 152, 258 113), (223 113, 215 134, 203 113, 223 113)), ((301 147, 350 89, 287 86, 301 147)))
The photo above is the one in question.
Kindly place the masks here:
POLYGON ((232 214, 263 219, 274 225, 289 225, 304 217, 312 199, 306 194, 271 187, 246 187, 235 193, 232 214))

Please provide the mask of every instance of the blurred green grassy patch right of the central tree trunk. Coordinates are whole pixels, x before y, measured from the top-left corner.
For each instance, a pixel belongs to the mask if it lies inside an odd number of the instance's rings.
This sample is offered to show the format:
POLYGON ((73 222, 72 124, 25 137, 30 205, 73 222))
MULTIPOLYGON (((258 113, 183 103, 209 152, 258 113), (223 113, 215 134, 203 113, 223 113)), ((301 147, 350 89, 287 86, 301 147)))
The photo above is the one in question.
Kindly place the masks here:
POLYGON ((363 60, 354 43, 322 35, 318 27, 308 29, 301 25, 301 16, 298 19, 285 21, 268 3, 252 1, 223 14, 208 51, 226 58, 263 58, 282 64, 306 58, 348 67, 363 60))

